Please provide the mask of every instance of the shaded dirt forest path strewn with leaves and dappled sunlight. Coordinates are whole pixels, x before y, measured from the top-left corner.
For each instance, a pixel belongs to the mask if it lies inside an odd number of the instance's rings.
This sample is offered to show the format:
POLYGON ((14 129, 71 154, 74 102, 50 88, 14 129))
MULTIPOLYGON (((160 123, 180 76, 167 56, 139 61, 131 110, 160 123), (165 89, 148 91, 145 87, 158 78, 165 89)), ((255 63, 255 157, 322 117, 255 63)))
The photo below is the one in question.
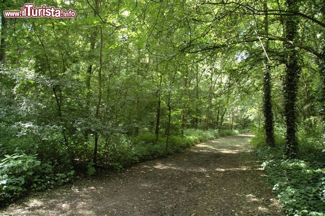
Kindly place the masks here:
POLYGON ((251 134, 46 191, 2 215, 280 215, 251 134))

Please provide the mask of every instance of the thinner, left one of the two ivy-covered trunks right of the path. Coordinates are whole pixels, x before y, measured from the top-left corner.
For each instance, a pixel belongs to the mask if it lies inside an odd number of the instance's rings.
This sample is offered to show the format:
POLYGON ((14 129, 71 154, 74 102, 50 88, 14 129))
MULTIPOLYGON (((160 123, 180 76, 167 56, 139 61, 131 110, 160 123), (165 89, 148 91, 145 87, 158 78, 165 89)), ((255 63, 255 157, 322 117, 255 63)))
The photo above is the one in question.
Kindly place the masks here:
MULTIPOLYGON (((266 34, 269 33, 268 26, 268 7, 267 3, 264 2, 264 10, 266 14, 264 16, 264 31, 266 34)), ((266 142, 269 146, 274 146, 274 132, 273 132, 273 112, 272 112, 272 85, 271 85, 271 73, 269 67, 269 58, 268 58, 268 50, 269 50, 269 40, 266 40, 265 43, 265 57, 264 57, 264 119, 265 119, 265 135, 266 142)))

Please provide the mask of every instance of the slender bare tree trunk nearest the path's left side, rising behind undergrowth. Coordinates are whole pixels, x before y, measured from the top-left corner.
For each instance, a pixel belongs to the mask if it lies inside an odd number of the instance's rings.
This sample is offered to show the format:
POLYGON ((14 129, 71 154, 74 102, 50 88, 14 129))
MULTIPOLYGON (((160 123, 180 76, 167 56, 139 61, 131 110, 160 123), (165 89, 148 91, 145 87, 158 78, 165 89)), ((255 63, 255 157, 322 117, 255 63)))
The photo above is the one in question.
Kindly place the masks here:
MULTIPOLYGON (((100 34, 101 34, 101 44, 100 44, 100 62, 99 62, 99 71, 98 71, 98 82, 99 82, 99 90, 98 90, 98 102, 96 105, 96 114, 95 118, 100 118, 100 106, 101 106, 101 100, 102 100, 102 67, 103 67, 103 28, 100 27, 100 34)), ((97 164, 97 152, 98 152, 98 139, 100 136, 100 133, 98 130, 94 133, 94 149, 93 149, 93 163, 97 164)))

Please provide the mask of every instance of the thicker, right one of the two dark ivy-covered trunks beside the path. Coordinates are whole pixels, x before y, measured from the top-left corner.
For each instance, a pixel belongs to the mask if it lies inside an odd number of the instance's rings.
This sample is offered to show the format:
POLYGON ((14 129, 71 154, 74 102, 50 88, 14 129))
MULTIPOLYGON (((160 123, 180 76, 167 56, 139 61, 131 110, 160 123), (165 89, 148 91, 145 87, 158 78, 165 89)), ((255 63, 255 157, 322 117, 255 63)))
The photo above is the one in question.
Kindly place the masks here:
MULTIPOLYGON (((286 0, 288 12, 298 12, 297 0, 286 0)), ((295 42, 298 30, 298 19, 296 16, 288 16, 285 23, 285 38, 295 42)), ((288 53, 286 60, 286 75, 284 83, 285 95, 285 120, 286 120, 286 156, 295 158, 298 153, 297 140, 297 91, 301 67, 298 63, 298 49, 287 43, 285 45, 288 53)))

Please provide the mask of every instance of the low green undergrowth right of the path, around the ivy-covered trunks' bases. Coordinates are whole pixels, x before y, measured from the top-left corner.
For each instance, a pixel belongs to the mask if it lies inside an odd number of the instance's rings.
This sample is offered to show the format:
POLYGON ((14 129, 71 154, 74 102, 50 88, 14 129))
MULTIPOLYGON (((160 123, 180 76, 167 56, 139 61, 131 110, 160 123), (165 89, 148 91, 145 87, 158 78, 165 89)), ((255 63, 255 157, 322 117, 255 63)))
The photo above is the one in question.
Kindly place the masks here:
POLYGON ((325 153, 321 138, 300 134, 297 159, 284 156, 285 139, 278 133, 276 146, 268 147, 261 135, 252 139, 273 191, 288 215, 325 215, 325 153))

